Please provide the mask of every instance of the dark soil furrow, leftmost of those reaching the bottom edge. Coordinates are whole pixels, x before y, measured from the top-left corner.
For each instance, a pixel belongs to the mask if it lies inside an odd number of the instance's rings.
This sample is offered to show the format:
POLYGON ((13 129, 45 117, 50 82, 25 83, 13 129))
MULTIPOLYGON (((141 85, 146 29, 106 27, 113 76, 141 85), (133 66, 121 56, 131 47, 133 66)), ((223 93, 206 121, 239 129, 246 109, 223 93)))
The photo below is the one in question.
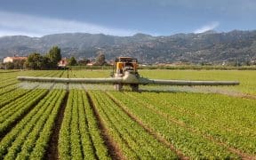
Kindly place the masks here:
POLYGON ((44 159, 47 160, 56 160, 59 159, 59 151, 58 151, 58 143, 59 143, 59 134, 60 134, 60 127, 63 121, 65 108, 68 101, 68 92, 66 92, 64 99, 60 105, 60 110, 58 113, 57 119, 55 120, 55 124, 53 125, 53 131, 51 140, 49 141, 49 146, 46 149, 46 154, 44 159))

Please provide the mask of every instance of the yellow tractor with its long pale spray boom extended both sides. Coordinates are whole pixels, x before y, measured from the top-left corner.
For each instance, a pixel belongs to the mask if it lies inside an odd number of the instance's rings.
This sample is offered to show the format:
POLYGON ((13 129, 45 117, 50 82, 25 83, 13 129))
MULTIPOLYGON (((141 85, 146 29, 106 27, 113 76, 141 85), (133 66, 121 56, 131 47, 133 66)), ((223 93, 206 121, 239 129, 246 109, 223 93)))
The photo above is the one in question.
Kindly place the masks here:
POLYGON ((18 80, 26 82, 50 82, 63 84, 114 84, 116 91, 122 91, 123 85, 130 85, 132 91, 139 91, 139 84, 164 85, 237 85, 237 81, 188 81, 148 79, 138 73, 138 60, 132 57, 116 58, 112 77, 109 78, 60 78, 60 77, 34 77, 18 76, 18 80))

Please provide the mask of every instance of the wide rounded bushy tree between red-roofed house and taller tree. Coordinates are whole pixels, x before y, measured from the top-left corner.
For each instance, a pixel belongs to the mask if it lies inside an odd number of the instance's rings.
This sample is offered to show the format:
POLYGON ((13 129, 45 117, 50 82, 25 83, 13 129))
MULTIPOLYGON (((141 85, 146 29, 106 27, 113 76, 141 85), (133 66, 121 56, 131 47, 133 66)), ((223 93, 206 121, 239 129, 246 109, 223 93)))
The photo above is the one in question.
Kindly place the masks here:
POLYGON ((25 61, 25 67, 30 69, 41 69, 44 67, 44 57, 34 52, 28 55, 28 59, 25 61))

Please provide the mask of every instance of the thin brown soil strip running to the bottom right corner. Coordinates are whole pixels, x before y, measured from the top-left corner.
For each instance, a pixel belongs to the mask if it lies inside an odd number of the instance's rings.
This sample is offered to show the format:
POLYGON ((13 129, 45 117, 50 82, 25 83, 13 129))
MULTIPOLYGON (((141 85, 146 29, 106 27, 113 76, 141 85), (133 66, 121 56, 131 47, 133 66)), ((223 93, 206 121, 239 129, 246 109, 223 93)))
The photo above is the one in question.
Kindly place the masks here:
MULTIPOLYGON (((132 97, 132 95, 128 95, 128 94, 126 94, 126 95, 132 97)), ((111 95, 109 95, 109 96, 111 96, 111 95)), ((122 107, 122 106, 120 106, 120 107, 122 107)), ((168 116, 167 114, 164 114, 163 112, 161 112, 161 111, 159 111, 157 109, 150 108, 147 105, 145 105, 145 108, 151 109, 154 112, 156 112, 156 114, 163 116, 165 119, 169 120, 170 122, 178 124, 178 125, 180 125, 183 128, 186 128, 189 132, 193 132, 193 133, 195 133, 197 135, 201 135, 204 139, 210 140, 210 141, 212 141, 213 143, 215 143, 217 145, 220 145, 220 146, 222 146, 224 148, 227 148, 230 152, 236 154, 237 156, 241 156, 243 159, 256 159, 256 156, 252 156, 252 155, 246 154, 242 150, 239 150, 239 149, 236 149, 236 148, 231 148, 231 147, 228 146, 228 144, 220 142, 219 140, 215 140, 212 136, 204 135, 201 132, 198 132, 198 131, 194 130, 193 128, 189 127, 187 124, 180 123, 175 118, 172 118, 172 117, 168 116)))

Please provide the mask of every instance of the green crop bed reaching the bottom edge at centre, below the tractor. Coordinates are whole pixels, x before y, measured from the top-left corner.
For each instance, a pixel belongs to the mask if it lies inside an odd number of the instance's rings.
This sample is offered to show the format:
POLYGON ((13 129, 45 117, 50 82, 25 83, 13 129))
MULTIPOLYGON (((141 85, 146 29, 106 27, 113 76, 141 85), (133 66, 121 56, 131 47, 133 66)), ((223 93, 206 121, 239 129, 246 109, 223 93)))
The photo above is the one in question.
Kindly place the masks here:
POLYGON ((127 159, 177 158, 171 148, 133 121, 105 92, 89 92, 100 120, 127 159))

